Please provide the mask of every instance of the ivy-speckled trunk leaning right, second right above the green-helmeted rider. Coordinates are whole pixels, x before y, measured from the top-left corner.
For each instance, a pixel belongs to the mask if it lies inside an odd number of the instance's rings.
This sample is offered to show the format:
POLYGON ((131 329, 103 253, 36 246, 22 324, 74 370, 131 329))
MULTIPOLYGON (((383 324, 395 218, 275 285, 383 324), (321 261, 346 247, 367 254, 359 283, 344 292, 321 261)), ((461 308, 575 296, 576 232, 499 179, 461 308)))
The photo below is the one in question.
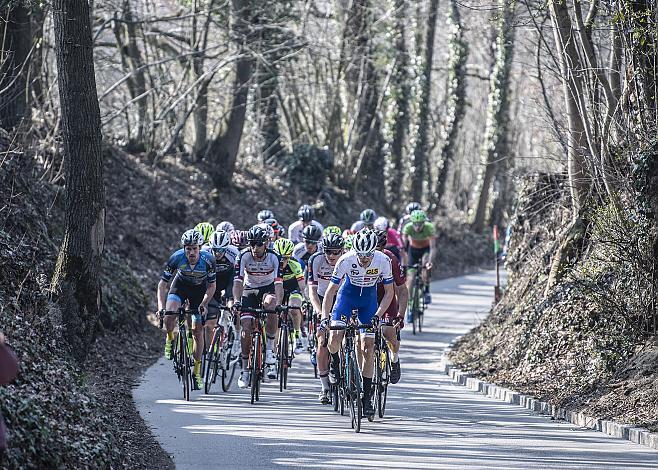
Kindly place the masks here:
POLYGON ((466 61, 468 60, 468 45, 464 40, 464 30, 459 14, 457 0, 450 0, 448 21, 452 28, 450 37, 450 58, 448 59, 448 110, 446 126, 443 130, 445 143, 441 149, 441 168, 439 169, 434 201, 432 206, 436 210, 441 207, 450 165, 455 158, 457 137, 464 113, 466 111, 466 61))

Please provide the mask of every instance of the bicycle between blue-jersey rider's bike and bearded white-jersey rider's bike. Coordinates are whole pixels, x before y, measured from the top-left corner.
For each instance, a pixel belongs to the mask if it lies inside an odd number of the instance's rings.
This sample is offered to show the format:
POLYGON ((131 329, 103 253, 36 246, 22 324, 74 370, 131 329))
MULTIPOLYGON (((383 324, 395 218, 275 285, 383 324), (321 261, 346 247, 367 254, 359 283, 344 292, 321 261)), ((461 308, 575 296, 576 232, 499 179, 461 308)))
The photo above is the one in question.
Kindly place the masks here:
POLYGON ((235 369, 240 361, 240 355, 233 356, 233 343, 237 340, 235 325, 233 324, 233 317, 230 314, 231 309, 220 305, 216 307, 220 312, 228 313, 228 322, 222 324, 221 319, 224 314, 220 314, 217 324, 212 331, 212 339, 210 341, 210 349, 204 356, 205 358, 205 376, 204 376, 204 391, 206 394, 210 393, 210 388, 217 380, 217 376, 222 377, 222 390, 228 392, 235 376, 235 369))

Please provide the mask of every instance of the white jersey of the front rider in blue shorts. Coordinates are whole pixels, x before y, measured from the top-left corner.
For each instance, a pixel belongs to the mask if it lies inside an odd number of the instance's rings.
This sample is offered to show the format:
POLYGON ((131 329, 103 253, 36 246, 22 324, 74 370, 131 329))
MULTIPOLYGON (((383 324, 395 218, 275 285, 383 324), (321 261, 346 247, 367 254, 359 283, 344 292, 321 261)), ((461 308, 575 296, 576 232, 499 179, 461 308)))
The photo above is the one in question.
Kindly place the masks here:
POLYGON ((331 282, 338 285, 343 279, 343 288, 375 287, 378 282, 390 284, 393 282, 391 259, 381 251, 375 251, 372 261, 364 268, 359 264, 356 253, 348 251, 338 258, 331 282))

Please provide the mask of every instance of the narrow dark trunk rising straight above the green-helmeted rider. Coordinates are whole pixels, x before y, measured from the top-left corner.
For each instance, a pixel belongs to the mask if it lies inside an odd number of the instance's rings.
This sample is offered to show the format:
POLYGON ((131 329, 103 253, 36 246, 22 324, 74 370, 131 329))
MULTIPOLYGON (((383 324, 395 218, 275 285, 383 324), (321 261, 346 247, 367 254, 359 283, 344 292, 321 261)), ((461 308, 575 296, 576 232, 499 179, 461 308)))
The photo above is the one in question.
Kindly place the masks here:
POLYGON ((432 90, 432 62, 434 60, 434 36, 436 32, 436 12, 439 0, 430 0, 430 9, 427 16, 427 36, 425 37, 425 53, 423 58, 420 97, 418 99, 418 135, 414 148, 410 169, 411 197, 414 201, 422 201, 427 166, 429 162, 429 126, 430 102, 432 90))

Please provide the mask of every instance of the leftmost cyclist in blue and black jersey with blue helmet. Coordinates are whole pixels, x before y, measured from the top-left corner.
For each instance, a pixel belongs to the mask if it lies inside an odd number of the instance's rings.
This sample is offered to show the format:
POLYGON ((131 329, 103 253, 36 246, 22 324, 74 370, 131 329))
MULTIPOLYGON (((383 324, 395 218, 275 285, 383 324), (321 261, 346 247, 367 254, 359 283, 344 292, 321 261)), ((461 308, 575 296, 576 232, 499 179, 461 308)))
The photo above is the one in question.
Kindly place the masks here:
MULTIPOLYGON (((187 230, 181 237, 183 248, 175 251, 162 272, 158 283, 158 310, 162 312, 175 311, 187 300, 190 309, 198 310, 192 315, 192 330, 194 334, 194 385, 196 389, 203 388, 201 379, 201 341, 203 330, 201 315, 208 308, 208 303, 215 295, 215 260, 212 254, 201 250, 203 235, 195 229, 187 230)), ((165 357, 172 358, 174 327, 176 317, 165 317, 167 339, 165 341, 165 357)))

